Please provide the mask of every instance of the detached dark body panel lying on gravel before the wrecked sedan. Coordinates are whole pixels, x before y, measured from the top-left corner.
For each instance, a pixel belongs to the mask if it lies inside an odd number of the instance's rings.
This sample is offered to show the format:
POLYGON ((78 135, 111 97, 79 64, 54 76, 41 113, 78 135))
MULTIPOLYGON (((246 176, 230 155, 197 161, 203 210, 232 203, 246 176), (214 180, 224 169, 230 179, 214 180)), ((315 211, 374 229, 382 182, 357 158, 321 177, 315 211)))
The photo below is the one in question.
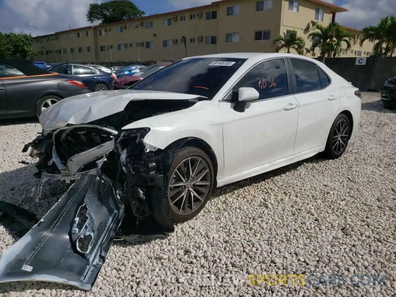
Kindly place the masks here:
POLYGON ((3 252, 0 282, 37 280, 91 289, 123 217, 124 206, 105 176, 81 177, 3 252), (86 238, 90 241, 83 246, 86 238))

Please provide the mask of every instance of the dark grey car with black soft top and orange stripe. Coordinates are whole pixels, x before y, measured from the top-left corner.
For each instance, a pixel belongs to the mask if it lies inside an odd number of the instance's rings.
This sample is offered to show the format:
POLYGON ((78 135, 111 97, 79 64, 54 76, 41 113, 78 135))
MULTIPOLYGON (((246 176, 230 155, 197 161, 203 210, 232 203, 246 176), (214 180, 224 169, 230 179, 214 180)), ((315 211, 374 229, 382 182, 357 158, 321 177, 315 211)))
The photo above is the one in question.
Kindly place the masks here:
POLYGON ((0 58, 0 119, 38 117, 63 98, 89 92, 78 76, 49 73, 28 60, 0 58))

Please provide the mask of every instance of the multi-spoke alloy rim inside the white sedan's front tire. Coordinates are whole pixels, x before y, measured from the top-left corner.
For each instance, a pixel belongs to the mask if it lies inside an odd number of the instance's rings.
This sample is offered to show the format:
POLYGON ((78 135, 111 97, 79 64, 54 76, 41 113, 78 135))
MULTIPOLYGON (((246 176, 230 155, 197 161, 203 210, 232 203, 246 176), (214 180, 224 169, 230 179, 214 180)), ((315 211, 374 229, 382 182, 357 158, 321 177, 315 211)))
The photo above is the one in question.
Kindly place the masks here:
POLYGON ((210 170, 200 157, 188 157, 176 167, 168 186, 169 205, 179 215, 196 211, 208 196, 210 170))

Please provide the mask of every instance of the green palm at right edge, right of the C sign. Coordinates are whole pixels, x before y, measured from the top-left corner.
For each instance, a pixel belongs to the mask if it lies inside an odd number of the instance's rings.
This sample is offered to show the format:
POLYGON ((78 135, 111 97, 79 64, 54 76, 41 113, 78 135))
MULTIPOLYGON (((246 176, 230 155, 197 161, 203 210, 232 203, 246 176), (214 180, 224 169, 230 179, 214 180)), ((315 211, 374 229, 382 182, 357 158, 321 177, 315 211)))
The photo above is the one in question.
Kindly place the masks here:
POLYGON ((396 17, 388 15, 379 20, 375 26, 362 29, 360 46, 368 40, 374 43, 373 53, 378 57, 392 56, 396 50, 396 17))

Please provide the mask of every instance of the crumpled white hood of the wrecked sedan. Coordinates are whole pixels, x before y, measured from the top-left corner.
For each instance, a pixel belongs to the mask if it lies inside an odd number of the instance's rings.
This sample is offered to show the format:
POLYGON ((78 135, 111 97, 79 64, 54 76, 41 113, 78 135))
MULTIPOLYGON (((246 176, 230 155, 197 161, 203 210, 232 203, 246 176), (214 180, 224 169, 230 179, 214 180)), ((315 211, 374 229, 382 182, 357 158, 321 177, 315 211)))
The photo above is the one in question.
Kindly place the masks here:
POLYGON ((200 96, 129 89, 87 93, 59 101, 43 112, 39 120, 44 130, 55 130, 67 124, 87 124, 110 116, 124 110, 132 100, 187 100, 198 97, 200 96))

